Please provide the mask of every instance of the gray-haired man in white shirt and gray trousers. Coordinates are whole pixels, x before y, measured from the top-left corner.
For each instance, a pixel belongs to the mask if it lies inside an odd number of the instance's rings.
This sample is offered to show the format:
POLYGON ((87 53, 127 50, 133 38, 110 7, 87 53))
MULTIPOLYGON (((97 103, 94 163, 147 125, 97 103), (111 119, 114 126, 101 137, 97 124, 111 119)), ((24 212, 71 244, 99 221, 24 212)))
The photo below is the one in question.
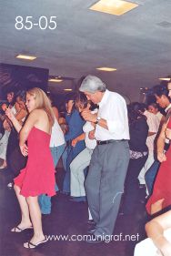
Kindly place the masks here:
POLYGON ((106 89, 101 79, 87 76, 80 91, 99 105, 97 114, 83 111, 82 117, 96 125, 89 134, 96 138, 85 191, 96 229, 88 242, 101 242, 113 233, 129 162, 129 130, 126 101, 106 89))

